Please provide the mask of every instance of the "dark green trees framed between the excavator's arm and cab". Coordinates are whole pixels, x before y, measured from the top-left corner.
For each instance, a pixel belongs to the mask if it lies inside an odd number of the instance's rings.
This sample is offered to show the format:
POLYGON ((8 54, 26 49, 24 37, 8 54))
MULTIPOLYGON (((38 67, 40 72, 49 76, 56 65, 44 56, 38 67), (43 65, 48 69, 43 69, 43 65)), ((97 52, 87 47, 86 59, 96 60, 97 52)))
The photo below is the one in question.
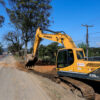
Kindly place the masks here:
POLYGON ((56 54, 60 48, 62 48, 62 46, 59 46, 56 42, 53 42, 47 46, 41 44, 38 48, 39 60, 48 64, 55 64, 56 54))

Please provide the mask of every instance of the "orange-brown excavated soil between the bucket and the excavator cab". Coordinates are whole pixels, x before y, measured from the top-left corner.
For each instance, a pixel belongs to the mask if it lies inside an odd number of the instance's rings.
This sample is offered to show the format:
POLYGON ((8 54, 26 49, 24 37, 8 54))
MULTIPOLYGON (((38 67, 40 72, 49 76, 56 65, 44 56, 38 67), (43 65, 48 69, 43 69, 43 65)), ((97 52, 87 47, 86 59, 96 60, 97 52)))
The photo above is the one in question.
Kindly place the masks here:
MULTIPOLYGON (((35 73, 37 75, 46 77, 55 82, 55 76, 57 76, 56 66, 55 65, 35 65, 32 69, 26 70, 24 64, 17 63, 18 69, 35 73)), ((99 87, 98 87, 99 89, 99 87)), ((95 100, 100 100, 100 93, 96 93, 95 100)))

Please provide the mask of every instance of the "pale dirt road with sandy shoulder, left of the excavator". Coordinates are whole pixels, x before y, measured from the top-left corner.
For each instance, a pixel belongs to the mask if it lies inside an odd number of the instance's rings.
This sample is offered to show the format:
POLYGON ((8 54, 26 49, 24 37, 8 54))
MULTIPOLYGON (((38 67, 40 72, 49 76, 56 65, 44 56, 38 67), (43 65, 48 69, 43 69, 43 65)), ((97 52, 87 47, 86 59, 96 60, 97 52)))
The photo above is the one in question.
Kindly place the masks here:
POLYGON ((47 78, 17 67, 12 56, 0 61, 0 100, 84 100, 47 78))

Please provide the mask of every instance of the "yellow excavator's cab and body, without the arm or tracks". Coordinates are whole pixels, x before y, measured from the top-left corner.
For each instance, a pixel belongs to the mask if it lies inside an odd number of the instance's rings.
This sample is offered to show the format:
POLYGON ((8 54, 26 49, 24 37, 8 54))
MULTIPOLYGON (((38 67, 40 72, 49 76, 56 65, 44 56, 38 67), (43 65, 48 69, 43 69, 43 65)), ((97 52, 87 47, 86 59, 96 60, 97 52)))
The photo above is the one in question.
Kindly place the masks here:
POLYGON ((81 48, 59 50, 57 70, 59 76, 100 81, 100 62, 85 59, 81 48))

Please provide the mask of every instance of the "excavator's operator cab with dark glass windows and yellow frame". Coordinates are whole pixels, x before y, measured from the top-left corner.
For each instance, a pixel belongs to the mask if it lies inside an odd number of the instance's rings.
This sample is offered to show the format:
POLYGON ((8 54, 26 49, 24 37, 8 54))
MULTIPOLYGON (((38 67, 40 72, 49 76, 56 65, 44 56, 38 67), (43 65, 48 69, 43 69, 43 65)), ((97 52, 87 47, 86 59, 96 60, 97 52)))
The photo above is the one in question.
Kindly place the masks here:
POLYGON ((64 68, 76 63, 76 60, 84 60, 85 54, 83 49, 61 49, 57 55, 57 68, 64 68))

